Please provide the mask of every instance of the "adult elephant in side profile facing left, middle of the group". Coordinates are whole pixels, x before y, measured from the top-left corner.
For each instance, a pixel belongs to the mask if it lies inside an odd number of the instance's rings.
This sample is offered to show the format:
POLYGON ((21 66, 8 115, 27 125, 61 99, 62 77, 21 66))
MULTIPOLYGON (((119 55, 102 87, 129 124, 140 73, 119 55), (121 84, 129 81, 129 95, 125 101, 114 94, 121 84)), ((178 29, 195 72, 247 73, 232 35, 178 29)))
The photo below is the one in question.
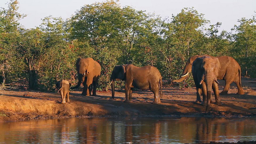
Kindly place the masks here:
POLYGON ((125 81, 125 101, 131 102, 132 89, 150 89, 154 93, 153 104, 160 103, 162 97, 162 76, 153 66, 136 67, 132 64, 117 65, 111 74, 112 98, 115 97, 115 80, 125 81), (159 97, 160 96, 160 97, 159 97))

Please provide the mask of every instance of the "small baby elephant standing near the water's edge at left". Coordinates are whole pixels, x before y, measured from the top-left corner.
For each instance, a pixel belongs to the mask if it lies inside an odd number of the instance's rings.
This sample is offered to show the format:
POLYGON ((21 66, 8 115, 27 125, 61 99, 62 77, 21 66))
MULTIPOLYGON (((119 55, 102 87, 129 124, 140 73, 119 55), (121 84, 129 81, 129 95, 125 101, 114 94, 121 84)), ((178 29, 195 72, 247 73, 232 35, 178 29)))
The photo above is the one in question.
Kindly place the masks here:
POLYGON ((71 84, 67 80, 61 80, 56 83, 56 88, 58 92, 61 94, 61 104, 66 103, 66 96, 67 102, 69 102, 69 88, 71 84))

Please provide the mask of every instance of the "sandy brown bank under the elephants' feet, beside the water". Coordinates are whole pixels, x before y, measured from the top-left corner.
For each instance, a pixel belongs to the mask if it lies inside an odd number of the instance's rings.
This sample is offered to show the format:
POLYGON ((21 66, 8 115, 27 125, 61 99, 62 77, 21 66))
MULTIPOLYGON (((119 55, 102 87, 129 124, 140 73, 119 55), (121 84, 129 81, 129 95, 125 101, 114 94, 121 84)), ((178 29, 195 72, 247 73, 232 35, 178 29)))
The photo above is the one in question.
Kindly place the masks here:
MULTIPOLYGON (((224 81, 219 81, 219 91, 224 81)), ((205 113, 204 106, 195 103, 196 90, 175 88, 163 85, 160 104, 152 104, 151 91, 134 91, 133 102, 123 103, 124 90, 117 90, 115 99, 111 91, 97 92, 98 96, 81 96, 81 89, 70 92, 70 102, 61 104, 58 93, 1 90, 0 121, 39 120, 92 116, 204 116, 204 117, 255 117, 256 116, 256 79, 242 78, 244 95, 236 95, 237 87, 231 85, 229 94, 220 96, 222 106, 210 105, 205 113)), ((212 100, 215 101, 214 97, 212 100)))

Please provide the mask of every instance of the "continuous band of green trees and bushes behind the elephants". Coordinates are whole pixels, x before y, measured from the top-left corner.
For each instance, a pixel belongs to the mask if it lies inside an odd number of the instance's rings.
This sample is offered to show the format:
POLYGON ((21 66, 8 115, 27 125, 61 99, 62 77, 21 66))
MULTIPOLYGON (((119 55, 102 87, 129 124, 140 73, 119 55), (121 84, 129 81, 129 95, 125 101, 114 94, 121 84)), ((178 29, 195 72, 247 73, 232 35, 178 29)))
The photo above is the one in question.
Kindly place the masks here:
MULTIPOLYGON (((4 83, 28 83, 31 89, 53 90, 55 82, 75 83, 77 58, 101 65, 99 90, 107 90, 115 65, 152 65, 171 84, 194 55, 232 56, 243 74, 256 77, 256 19, 242 18, 232 33, 219 32, 221 23, 208 21, 194 8, 171 19, 121 7, 114 0, 83 6, 67 19, 45 17, 35 29, 24 29, 18 1, 0 9, 0 74, 4 83)), ((123 82, 117 82, 122 88, 123 82)), ((193 77, 179 87, 194 86, 193 77)))

